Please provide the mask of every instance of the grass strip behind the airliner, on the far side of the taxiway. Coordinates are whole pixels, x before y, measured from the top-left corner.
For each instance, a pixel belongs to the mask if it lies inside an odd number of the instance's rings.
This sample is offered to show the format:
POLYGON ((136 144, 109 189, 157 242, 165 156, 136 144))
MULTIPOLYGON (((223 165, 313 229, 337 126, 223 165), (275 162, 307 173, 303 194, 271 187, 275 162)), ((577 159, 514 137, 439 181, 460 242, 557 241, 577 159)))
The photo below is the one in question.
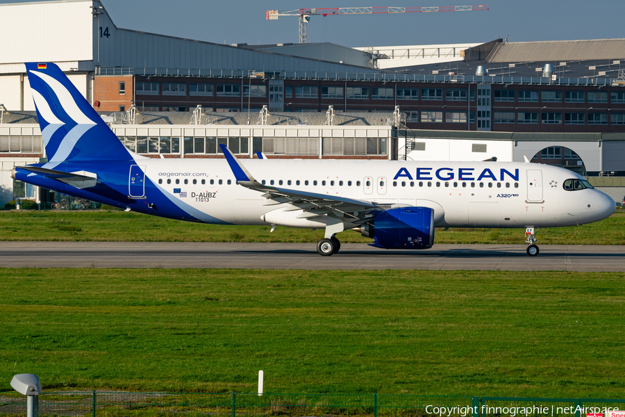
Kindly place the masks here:
MULTIPOLYGON (((0 240, 159 241, 159 242, 317 242, 323 231, 268 226, 219 226, 156 218, 121 211, 0 211, 0 240)), ((371 243, 353 231, 345 243, 371 243)), ((625 211, 601 222, 542 229, 541 245, 625 245, 625 211)), ((437 229, 435 243, 510 243, 525 241, 524 229, 437 229)))

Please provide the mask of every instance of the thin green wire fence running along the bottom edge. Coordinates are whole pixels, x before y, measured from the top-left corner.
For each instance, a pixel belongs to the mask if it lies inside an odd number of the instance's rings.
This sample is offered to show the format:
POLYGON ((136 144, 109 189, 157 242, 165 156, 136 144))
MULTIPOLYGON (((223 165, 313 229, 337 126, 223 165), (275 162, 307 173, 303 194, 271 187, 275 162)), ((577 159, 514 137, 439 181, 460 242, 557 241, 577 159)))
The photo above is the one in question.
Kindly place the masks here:
MULTIPOLYGON (((619 409, 625 400, 443 395, 131 393, 62 391, 40 395, 40 416, 349 416, 583 417, 619 409)), ((0 393, 0 416, 26 415, 26 397, 0 393)))

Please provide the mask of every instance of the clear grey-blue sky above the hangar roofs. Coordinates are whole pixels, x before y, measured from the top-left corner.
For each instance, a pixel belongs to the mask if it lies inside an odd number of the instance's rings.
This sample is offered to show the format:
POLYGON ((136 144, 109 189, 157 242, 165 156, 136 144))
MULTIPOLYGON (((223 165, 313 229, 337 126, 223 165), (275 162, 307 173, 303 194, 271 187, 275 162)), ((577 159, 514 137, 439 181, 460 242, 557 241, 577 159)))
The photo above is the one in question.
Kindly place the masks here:
MULTIPOLYGON (((6 1, 6 0, 5 0, 6 1)), ((119 28, 215 43, 298 42, 295 16, 270 9, 360 6, 465 6, 476 0, 101 0, 119 28), (388 1, 389 3, 386 3, 388 1), (457 3, 453 3, 457 1, 457 3)), ((625 0, 490 0, 489 10, 452 13, 313 16, 308 42, 347 47, 625 38, 625 0)))

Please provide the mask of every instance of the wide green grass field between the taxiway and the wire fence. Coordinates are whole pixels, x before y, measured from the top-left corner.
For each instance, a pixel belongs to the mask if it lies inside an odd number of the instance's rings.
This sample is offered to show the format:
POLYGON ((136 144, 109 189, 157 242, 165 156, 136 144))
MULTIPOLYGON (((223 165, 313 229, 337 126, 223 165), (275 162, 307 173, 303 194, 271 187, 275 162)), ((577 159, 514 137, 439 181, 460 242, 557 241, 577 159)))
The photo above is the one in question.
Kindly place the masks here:
MULTIPOLYGON (((106 218, 106 215, 105 215, 106 218)), ((49 220, 47 220, 49 221, 49 220)), ((10 269, 0 391, 621 398, 625 273, 10 269)))

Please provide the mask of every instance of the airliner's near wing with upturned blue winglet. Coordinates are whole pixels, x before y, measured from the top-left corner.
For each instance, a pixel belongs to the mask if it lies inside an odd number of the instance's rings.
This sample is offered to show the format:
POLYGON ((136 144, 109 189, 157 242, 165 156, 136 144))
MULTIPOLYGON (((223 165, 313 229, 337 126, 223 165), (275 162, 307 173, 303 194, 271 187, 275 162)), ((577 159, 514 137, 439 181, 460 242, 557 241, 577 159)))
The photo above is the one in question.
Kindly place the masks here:
POLYGON ((338 195, 325 195, 308 193, 302 190, 291 190, 274 186, 265 186, 258 182, 249 171, 240 163, 234 154, 226 147, 220 145, 226 156, 226 161, 231 167, 235 179, 240 186, 263 193, 267 199, 265 206, 278 204, 290 204, 292 207, 286 211, 303 210, 298 218, 315 218, 321 215, 334 215, 344 222, 363 223, 369 220, 374 211, 382 208, 372 202, 361 199, 351 199, 338 195))

